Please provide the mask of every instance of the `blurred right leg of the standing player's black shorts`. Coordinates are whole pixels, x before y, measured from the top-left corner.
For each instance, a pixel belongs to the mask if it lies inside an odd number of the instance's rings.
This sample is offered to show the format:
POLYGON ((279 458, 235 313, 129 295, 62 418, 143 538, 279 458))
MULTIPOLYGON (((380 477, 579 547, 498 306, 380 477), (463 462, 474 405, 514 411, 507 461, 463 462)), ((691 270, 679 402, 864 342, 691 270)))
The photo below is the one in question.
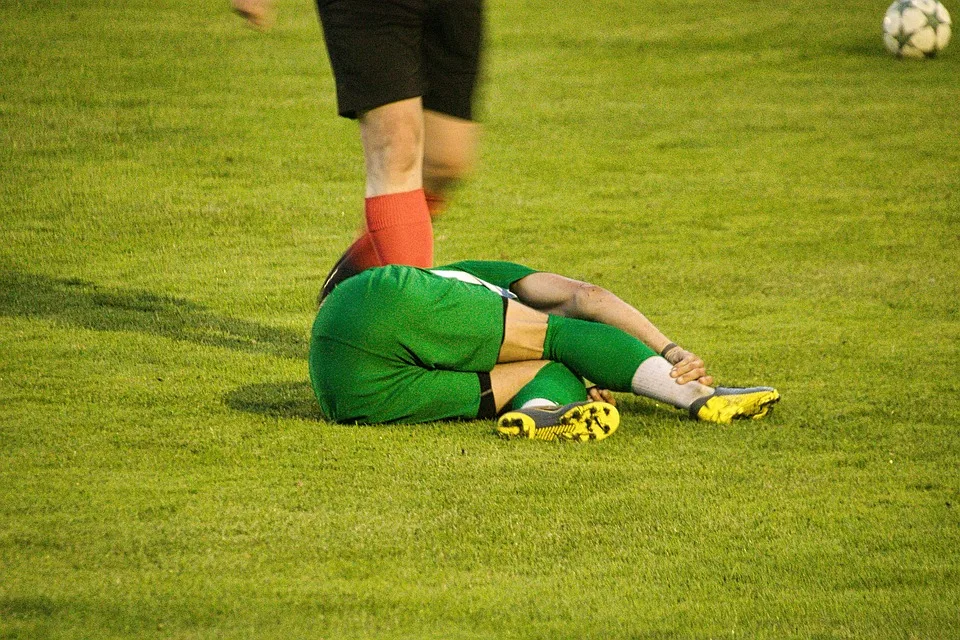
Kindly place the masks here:
POLYGON ((423 106, 473 120, 480 73, 484 18, 482 0, 427 0, 423 33, 423 106))

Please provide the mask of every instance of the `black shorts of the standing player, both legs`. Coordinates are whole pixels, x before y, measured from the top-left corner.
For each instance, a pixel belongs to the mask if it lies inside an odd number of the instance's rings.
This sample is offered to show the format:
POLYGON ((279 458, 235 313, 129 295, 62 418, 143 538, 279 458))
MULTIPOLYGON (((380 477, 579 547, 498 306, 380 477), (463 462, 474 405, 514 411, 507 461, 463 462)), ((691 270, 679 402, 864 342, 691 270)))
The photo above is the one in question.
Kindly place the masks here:
POLYGON ((425 109, 473 119, 483 0, 317 0, 346 118, 423 97, 425 109))

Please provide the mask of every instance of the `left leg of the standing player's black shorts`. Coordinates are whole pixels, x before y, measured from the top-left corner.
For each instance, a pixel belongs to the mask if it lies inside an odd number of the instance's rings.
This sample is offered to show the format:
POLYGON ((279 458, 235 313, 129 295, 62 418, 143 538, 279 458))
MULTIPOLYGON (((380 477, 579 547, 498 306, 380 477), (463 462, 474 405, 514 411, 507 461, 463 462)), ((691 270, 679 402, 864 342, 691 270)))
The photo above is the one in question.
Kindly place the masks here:
POLYGON ((423 95, 424 0, 317 0, 317 9, 340 115, 423 95))

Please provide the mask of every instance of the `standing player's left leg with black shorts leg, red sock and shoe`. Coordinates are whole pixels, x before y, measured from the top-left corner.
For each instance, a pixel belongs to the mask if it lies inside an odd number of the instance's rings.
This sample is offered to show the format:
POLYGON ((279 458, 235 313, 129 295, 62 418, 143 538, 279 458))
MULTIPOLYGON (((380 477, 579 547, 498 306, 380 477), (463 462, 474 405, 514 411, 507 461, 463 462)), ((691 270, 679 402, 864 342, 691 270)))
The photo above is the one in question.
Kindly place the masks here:
POLYGON ((320 297, 371 267, 433 263, 423 194, 421 71, 425 8, 391 0, 317 0, 341 116, 357 119, 366 168, 366 230, 320 297))

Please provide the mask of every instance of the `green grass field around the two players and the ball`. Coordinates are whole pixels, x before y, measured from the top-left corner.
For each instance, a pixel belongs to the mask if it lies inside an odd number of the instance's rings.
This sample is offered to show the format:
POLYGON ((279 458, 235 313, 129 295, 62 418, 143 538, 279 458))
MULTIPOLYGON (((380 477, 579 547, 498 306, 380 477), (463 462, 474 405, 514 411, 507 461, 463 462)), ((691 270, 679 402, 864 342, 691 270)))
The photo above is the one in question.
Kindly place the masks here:
POLYGON ((784 397, 564 447, 321 419, 356 127, 310 3, 227 4, 3 3, 0 638, 960 637, 960 43, 490 0, 437 260, 603 284, 784 397))

